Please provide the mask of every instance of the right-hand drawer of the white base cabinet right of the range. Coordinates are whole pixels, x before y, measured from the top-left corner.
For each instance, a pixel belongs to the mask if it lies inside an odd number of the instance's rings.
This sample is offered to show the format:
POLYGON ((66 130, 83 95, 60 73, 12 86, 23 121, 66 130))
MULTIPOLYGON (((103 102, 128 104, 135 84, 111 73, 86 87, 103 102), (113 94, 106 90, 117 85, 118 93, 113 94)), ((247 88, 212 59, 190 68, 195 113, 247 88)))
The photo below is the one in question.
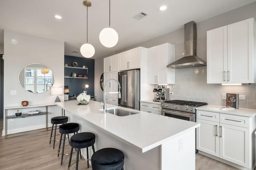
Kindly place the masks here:
POLYGON ((234 125, 238 127, 250 128, 250 118, 237 116, 237 115, 228 115, 220 113, 220 123, 225 123, 228 125, 234 125))

